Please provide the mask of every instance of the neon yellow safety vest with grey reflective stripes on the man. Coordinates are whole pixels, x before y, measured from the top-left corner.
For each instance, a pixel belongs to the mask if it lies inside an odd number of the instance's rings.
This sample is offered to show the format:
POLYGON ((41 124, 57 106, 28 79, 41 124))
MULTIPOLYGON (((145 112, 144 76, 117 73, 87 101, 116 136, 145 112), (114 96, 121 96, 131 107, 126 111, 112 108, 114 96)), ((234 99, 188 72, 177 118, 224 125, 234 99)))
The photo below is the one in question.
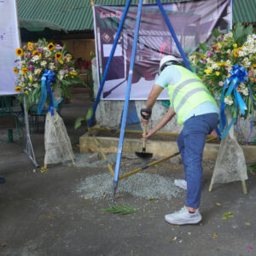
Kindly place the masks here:
POLYGON ((203 102, 213 102, 218 106, 207 87, 195 73, 185 67, 173 66, 181 73, 181 79, 177 84, 168 84, 167 89, 171 107, 176 112, 179 125, 183 125, 189 112, 203 102))

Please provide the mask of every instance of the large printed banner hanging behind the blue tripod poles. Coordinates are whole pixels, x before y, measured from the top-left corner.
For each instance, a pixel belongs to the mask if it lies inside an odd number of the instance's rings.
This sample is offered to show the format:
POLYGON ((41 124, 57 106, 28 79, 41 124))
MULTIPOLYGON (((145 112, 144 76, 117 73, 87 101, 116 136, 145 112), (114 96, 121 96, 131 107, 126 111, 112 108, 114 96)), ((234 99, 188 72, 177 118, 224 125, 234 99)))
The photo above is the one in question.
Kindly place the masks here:
MULTIPOLYGON (((218 28, 226 32, 232 24, 230 0, 166 3, 163 7, 187 57, 200 43, 211 40, 213 29, 218 28)), ((94 5, 99 84, 124 9, 125 6, 94 5)), ((130 6, 113 60, 108 68, 102 99, 125 99, 136 20, 137 6, 130 6)), ((158 5, 143 5, 133 68, 131 100, 147 99, 158 76, 160 59, 169 54, 181 58, 158 5)), ((167 90, 163 90, 159 99, 168 98, 167 90)))

